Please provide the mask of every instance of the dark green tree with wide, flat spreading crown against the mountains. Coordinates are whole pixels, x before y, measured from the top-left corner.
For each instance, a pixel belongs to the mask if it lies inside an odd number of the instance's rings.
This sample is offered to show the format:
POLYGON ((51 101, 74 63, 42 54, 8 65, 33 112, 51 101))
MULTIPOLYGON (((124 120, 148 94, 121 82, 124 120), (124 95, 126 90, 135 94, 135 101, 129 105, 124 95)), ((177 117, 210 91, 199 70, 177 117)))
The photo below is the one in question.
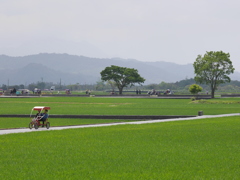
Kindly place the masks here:
POLYGON ((103 81, 112 80, 116 83, 119 94, 122 94, 124 87, 133 86, 135 83, 141 84, 145 81, 138 74, 138 70, 114 65, 106 67, 100 74, 103 81))

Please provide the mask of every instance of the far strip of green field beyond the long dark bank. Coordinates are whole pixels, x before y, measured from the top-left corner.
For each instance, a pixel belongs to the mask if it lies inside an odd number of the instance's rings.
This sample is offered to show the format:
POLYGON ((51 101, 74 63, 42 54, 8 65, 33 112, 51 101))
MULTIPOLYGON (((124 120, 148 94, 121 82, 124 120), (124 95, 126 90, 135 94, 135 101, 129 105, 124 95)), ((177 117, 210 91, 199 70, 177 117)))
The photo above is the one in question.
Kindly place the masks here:
POLYGON ((190 99, 41 97, 0 98, 0 114, 29 114, 34 106, 50 106, 51 114, 80 115, 206 115, 238 113, 239 98, 209 99, 192 103, 190 99), (224 101, 235 103, 226 104, 224 101))

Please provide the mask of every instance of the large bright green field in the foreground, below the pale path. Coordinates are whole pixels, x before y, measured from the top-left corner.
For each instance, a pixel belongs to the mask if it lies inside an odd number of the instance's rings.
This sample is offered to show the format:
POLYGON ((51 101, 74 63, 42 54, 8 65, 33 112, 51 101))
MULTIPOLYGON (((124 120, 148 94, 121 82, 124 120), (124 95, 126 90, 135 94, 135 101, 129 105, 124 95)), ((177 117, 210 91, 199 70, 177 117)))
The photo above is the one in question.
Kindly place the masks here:
POLYGON ((0 136, 0 179, 240 177, 239 117, 0 136))

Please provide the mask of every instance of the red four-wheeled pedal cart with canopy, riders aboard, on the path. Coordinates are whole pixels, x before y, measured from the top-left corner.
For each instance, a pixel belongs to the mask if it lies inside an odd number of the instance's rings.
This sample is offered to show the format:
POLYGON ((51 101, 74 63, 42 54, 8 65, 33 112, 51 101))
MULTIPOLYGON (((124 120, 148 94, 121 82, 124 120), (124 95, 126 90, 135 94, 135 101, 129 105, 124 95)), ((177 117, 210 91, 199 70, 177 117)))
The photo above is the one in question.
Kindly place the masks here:
POLYGON ((50 122, 48 121, 48 117, 50 109, 51 108, 48 106, 33 107, 30 114, 31 121, 29 123, 29 129, 38 129, 39 127, 46 127, 47 129, 49 129, 50 122), (34 112, 36 112, 36 114, 34 112))

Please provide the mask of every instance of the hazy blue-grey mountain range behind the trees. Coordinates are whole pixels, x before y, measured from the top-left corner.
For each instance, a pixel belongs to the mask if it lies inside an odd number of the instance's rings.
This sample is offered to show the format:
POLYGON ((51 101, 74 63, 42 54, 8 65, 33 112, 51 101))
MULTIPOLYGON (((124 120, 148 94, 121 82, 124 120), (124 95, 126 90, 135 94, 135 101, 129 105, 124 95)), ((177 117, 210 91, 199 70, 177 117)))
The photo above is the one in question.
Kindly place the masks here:
MULTIPOLYGON (((116 65, 137 69, 146 79, 145 84, 176 82, 194 77, 192 64, 179 65, 170 62, 142 62, 121 58, 90 58, 69 54, 36 54, 21 57, 0 55, 0 84, 28 85, 36 82, 62 84, 93 84, 101 80, 100 72, 116 65)), ((231 75, 239 80, 240 73, 231 75)))

